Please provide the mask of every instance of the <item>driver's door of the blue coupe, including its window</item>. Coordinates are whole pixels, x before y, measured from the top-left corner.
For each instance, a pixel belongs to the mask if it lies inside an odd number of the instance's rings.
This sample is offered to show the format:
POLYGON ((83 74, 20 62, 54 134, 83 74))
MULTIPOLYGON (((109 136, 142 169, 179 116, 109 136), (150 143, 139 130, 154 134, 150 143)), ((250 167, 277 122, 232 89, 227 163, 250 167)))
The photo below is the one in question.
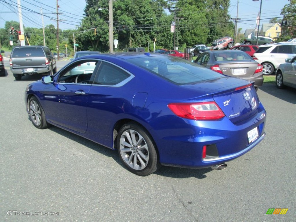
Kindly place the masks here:
POLYGON ((42 104, 49 122, 86 132, 89 89, 99 64, 96 59, 80 59, 55 75, 54 84, 46 86, 42 104))

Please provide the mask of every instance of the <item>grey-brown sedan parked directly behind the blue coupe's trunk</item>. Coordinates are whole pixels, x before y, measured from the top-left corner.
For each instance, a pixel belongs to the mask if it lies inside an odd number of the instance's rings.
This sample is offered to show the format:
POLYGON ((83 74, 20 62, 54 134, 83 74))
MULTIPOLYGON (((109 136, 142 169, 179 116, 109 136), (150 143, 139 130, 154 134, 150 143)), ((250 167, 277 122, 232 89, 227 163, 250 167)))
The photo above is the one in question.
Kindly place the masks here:
POLYGON ((204 52, 195 62, 223 75, 254 81, 256 90, 263 84, 262 65, 239 50, 204 52))

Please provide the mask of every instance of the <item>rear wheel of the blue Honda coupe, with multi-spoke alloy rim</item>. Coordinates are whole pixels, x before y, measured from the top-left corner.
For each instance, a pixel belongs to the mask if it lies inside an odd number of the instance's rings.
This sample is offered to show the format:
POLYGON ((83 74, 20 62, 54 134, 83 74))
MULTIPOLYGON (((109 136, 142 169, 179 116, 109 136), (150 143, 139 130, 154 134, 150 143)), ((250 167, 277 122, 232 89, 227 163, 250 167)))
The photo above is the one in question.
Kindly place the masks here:
POLYGON ((134 123, 123 125, 116 140, 118 154, 132 173, 147 176, 160 166, 156 146, 150 134, 134 123))

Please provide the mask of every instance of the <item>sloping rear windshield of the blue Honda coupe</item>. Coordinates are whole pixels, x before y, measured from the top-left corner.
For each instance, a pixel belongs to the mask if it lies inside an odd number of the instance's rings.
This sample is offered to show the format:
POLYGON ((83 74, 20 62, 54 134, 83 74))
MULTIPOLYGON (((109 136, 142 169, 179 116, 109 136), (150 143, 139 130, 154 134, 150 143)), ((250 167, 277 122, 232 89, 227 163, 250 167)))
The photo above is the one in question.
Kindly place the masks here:
POLYGON ((173 56, 140 57, 128 62, 178 85, 222 78, 223 75, 173 56))

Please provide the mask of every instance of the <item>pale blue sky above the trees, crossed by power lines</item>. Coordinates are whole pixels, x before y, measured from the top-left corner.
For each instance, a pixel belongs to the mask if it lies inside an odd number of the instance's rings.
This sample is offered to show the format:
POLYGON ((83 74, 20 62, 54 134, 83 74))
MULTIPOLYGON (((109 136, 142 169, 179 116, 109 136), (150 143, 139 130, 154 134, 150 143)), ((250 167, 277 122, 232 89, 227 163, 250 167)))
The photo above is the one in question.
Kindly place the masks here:
MULTIPOLYGON (((22 19, 25 27, 42 28, 42 16, 44 25, 54 25, 57 27, 56 0, 19 0, 22 6, 22 19), (41 13, 42 10, 42 13, 41 13)), ((94 0, 95 1, 95 0, 94 0)), ((107 1, 107 0, 106 0, 107 1)), ((260 24, 268 23, 273 17, 282 17, 281 9, 288 0, 261 0, 261 20, 260 24)), ((59 29, 76 29, 83 18, 85 1, 84 0, 59 0, 59 29)), ((237 16, 237 0, 231 0, 229 15, 233 18, 237 16)), ((238 3, 238 27, 242 32, 248 28, 255 29, 256 17, 260 10, 260 0, 239 0, 238 3)), ((0 0, 0 28, 4 28, 6 21, 18 21, 17 0, 0 0)), ((261 27, 260 25, 260 27, 261 27)))

